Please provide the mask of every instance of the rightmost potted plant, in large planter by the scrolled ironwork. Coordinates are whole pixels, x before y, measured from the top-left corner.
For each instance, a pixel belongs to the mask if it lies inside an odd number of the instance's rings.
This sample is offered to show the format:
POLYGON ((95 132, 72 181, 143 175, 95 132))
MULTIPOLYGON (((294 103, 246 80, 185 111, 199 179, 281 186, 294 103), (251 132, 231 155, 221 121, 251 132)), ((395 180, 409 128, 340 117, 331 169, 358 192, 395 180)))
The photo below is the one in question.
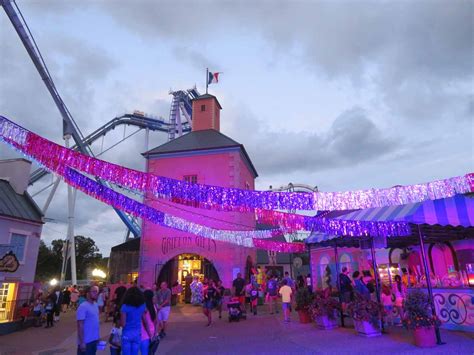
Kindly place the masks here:
POLYGON ((413 330, 415 345, 422 348, 435 346, 434 326, 439 325, 440 321, 432 314, 428 295, 421 290, 411 290, 403 302, 403 309, 403 325, 413 330))

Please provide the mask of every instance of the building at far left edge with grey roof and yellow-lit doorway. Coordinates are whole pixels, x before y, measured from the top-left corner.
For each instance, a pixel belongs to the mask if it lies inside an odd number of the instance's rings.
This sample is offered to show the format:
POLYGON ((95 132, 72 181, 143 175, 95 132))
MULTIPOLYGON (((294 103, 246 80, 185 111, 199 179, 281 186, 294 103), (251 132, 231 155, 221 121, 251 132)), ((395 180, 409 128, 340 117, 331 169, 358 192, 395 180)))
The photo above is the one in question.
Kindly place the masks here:
POLYGON ((26 192, 31 163, 0 161, 0 323, 16 318, 34 289, 42 213, 26 192))

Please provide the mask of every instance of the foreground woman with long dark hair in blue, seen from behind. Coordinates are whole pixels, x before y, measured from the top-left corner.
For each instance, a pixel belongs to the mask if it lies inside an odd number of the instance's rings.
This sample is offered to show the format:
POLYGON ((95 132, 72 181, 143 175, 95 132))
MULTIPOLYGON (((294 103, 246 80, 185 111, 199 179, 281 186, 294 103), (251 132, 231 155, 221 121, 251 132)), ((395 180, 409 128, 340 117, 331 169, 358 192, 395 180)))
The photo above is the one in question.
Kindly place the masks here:
POLYGON ((136 355, 140 349, 142 322, 145 328, 148 328, 145 319, 145 297, 138 287, 130 287, 125 292, 122 307, 120 307, 120 320, 122 325, 122 354, 136 355))

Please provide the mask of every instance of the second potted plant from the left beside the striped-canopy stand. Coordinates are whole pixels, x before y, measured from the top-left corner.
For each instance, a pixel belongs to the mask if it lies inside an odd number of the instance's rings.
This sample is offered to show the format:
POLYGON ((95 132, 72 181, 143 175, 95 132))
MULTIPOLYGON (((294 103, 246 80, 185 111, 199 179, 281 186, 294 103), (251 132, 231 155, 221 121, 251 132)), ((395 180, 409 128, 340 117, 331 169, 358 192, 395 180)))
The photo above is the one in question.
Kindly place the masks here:
POLYGON ((318 328, 326 330, 337 328, 336 311, 341 311, 341 304, 330 296, 329 288, 316 292, 310 313, 318 328))

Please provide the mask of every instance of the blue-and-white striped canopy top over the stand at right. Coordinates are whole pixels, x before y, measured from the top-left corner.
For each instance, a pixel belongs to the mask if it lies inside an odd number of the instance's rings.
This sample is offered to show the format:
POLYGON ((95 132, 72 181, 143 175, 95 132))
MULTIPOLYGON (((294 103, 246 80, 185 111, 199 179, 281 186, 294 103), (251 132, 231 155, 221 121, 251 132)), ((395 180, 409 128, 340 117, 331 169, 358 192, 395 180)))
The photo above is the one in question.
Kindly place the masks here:
POLYGON ((451 198, 353 211, 335 219, 347 221, 405 221, 453 227, 474 226, 474 198, 456 195, 451 198))

